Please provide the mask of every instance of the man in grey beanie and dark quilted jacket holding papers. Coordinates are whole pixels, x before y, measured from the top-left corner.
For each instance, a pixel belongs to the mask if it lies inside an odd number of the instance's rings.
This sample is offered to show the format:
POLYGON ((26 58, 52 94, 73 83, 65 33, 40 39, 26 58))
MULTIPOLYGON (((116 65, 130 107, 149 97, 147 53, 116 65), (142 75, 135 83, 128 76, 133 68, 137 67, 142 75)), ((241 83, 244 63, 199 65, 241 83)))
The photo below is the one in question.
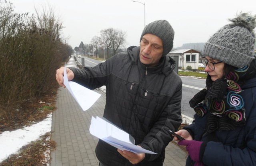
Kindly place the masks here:
MULTIPOLYGON (((67 68, 68 80, 95 89, 106 85, 103 117, 131 134, 135 144, 157 154, 117 150, 99 140, 100 166, 162 166, 165 148, 180 126, 182 81, 173 70, 176 62, 167 54, 173 47, 174 30, 166 20, 148 24, 140 47, 131 46, 94 68, 67 68)), ((64 67, 56 80, 63 87, 64 67)))

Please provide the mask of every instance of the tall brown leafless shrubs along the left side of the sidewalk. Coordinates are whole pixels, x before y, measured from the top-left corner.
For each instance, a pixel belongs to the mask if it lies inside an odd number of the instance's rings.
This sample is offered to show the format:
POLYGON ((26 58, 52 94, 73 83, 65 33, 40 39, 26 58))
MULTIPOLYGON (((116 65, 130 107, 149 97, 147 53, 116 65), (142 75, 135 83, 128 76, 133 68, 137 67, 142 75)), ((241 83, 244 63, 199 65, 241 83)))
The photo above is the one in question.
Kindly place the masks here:
POLYGON ((51 92, 56 69, 68 58, 54 14, 28 17, 0 0, 0 119, 18 120, 36 97, 51 92), (41 17, 41 18, 40 18, 41 17))

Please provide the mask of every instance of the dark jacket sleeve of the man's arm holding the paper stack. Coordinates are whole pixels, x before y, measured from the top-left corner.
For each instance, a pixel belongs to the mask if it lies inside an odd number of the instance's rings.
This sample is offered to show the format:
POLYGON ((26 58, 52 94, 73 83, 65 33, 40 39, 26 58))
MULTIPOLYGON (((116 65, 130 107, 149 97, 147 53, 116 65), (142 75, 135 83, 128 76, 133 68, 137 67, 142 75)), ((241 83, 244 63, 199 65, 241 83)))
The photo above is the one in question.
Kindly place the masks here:
POLYGON ((150 150, 155 154, 145 154, 145 161, 152 161, 164 152, 166 146, 172 141, 173 136, 168 130, 177 131, 182 122, 181 118, 181 98, 182 98, 182 83, 176 88, 174 96, 158 118, 158 121, 146 135, 143 142, 139 144, 144 149, 150 150))

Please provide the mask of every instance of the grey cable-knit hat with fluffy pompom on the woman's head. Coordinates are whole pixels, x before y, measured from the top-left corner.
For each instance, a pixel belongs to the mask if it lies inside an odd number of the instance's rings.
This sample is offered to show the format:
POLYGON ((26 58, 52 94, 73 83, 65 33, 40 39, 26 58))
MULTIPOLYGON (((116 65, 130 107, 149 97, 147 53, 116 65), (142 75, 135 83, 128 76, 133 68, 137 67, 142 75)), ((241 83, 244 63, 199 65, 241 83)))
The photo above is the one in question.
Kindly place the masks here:
POLYGON ((229 21, 204 44, 202 54, 241 68, 254 59, 256 16, 240 13, 229 21))

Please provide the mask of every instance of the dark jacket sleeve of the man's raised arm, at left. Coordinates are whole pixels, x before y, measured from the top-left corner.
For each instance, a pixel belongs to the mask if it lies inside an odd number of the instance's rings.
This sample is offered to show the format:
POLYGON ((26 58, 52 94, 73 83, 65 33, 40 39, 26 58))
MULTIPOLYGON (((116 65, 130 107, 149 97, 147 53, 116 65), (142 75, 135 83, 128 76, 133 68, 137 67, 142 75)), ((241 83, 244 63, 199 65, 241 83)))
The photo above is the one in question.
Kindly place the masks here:
POLYGON ((108 76, 111 74, 112 64, 115 56, 94 67, 84 67, 83 69, 69 68, 74 72, 72 81, 89 88, 90 90, 108 84, 108 76))

